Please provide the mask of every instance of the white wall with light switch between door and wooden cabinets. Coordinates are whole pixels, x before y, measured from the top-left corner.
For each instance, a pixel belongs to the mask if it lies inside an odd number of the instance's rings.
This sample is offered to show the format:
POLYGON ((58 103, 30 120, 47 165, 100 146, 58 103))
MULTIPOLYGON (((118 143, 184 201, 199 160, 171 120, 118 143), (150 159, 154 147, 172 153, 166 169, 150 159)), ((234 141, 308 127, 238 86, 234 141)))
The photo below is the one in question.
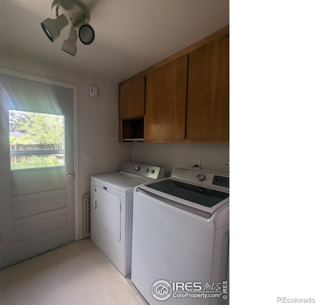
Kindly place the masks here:
MULTIPOLYGON (((69 56, 69 60, 75 60, 69 56)), ((55 79, 78 86, 79 200, 90 192, 91 175, 118 171, 121 161, 132 161, 132 143, 118 142, 118 84, 93 75, 49 67, 45 62, 1 52, 1 68, 55 79), (90 85, 99 88, 99 97, 89 95, 90 85), (93 164, 84 155, 94 155, 93 164)), ((79 203, 79 238, 83 237, 83 208, 79 203)))

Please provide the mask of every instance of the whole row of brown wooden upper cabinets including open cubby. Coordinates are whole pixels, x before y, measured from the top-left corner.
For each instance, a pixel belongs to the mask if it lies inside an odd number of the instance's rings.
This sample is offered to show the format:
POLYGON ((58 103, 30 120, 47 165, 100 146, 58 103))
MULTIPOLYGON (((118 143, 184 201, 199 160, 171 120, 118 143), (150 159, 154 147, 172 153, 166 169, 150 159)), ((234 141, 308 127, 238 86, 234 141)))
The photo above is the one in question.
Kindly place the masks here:
POLYGON ((120 84, 119 138, 228 142, 229 26, 120 84))

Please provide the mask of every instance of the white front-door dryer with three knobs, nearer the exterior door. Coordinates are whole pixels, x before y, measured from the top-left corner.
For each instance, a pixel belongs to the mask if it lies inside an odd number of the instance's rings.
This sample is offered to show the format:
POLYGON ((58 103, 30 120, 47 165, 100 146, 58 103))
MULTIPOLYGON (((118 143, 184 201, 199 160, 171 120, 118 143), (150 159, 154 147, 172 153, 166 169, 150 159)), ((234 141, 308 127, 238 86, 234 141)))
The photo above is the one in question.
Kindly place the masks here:
POLYGON ((123 275, 131 271, 133 190, 164 175, 161 167, 122 162, 119 172, 91 177, 91 239, 123 275))

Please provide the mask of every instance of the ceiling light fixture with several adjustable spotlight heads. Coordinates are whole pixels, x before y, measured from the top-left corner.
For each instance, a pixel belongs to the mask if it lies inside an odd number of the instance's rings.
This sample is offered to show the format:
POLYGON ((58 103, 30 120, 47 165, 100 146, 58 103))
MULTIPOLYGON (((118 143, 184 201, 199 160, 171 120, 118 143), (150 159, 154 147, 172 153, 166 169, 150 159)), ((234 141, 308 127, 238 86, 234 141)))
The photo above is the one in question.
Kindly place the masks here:
POLYGON ((95 32, 88 23, 90 12, 81 1, 54 0, 52 15, 55 19, 47 18, 41 22, 41 27, 50 41, 54 42, 66 26, 70 25, 71 27, 68 39, 63 41, 63 51, 75 56, 78 35, 83 44, 88 45, 93 42, 95 32))

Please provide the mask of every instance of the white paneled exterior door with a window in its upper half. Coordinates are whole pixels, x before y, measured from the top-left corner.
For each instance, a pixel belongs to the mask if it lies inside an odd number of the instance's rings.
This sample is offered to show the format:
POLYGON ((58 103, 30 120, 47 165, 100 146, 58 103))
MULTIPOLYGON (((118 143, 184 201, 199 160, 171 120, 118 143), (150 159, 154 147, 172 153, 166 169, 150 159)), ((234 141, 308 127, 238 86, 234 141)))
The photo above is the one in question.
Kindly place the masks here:
POLYGON ((73 90, 1 74, 0 136, 3 268, 74 240, 73 90))

